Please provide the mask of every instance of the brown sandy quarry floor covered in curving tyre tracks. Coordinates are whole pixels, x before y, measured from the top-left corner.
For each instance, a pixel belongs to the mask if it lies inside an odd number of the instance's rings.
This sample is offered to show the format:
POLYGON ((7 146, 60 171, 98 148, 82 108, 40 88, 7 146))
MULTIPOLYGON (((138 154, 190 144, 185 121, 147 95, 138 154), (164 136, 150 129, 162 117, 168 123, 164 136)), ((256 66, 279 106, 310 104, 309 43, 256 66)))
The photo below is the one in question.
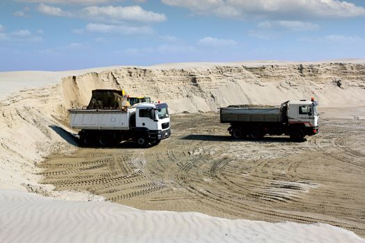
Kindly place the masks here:
POLYGON ((321 133, 230 140, 216 112, 172 116, 172 137, 136 149, 81 148, 38 164, 42 183, 143 210, 320 222, 365 236, 365 107, 326 109, 321 133))

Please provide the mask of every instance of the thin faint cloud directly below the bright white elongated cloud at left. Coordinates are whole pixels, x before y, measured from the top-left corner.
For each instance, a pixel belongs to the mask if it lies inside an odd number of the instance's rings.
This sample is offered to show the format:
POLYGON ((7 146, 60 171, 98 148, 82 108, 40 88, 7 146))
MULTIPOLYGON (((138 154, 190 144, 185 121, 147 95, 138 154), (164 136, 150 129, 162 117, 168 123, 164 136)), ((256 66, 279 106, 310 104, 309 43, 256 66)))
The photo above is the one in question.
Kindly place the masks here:
POLYGON ((150 35, 154 33, 152 28, 133 27, 133 26, 120 26, 120 25, 109 25, 109 24, 88 24, 86 31, 96 33, 117 33, 121 35, 150 35))

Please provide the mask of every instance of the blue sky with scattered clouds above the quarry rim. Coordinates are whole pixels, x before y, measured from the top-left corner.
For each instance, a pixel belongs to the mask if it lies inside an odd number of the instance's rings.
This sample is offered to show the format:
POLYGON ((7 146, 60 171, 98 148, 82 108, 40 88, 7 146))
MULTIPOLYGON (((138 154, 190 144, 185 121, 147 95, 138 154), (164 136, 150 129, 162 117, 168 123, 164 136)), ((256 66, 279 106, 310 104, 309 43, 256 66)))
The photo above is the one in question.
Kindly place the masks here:
POLYGON ((365 0, 2 0, 0 72, 365 58, 365 0))

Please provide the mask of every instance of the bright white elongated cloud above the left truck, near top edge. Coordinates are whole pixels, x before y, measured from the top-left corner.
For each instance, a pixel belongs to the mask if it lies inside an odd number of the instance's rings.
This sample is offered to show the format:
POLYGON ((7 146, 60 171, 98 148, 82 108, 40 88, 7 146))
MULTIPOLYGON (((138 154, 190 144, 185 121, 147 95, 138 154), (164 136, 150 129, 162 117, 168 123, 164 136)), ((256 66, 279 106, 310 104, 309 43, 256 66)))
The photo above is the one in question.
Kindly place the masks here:
POLYGON ((164 22, 166 16, 161 13, 144 10, 140 6, 90 6, 83 8, 87 17, 97 19, 128 20, 136 22, 164 22))

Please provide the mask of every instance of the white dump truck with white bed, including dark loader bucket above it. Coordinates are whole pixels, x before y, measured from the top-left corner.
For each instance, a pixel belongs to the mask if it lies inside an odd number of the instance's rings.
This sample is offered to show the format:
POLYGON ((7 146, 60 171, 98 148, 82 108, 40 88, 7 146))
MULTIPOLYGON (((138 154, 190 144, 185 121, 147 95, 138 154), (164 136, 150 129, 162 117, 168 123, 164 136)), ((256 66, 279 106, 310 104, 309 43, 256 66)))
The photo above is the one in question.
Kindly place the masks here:
POLYGON ((95 90, 88 108, 69 110, 70 127, 81 129, 79 137, 83 144, 109 146, 133 140, 145 147, 170 137, 166 103, 125 107, 119 99, 120 94, 115 90, 95 90))

